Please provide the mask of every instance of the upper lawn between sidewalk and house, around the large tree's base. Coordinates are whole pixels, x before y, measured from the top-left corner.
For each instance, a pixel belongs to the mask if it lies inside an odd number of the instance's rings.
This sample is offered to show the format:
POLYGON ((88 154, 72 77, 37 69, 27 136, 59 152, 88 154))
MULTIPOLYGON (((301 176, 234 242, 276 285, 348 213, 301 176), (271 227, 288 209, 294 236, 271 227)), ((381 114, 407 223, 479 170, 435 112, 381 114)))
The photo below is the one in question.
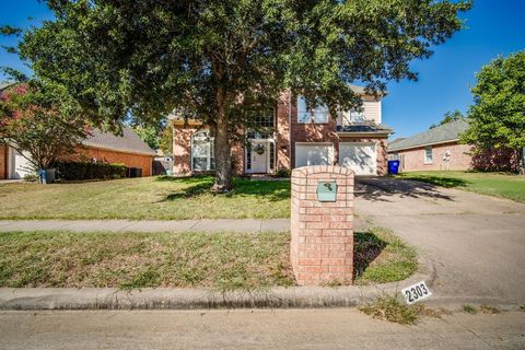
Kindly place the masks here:
POLYGON ((290 217, 289 180, 235 179, 225 195, 213 178, 142 177, 78 184, 0 184, 0 219, 272 219, 290 217))

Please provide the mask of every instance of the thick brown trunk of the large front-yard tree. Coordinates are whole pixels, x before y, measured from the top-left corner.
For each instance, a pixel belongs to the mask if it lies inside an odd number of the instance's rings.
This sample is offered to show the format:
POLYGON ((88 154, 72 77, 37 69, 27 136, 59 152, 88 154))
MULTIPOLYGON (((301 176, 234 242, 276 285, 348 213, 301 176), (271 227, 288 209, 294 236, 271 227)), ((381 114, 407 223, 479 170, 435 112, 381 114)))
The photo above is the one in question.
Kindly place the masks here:
POLYGON ((215 192, 226 192, 232 189, 232 147, 229 129, 224 105, 219 101, 214 135, 215 183, 212 188, 215 192))

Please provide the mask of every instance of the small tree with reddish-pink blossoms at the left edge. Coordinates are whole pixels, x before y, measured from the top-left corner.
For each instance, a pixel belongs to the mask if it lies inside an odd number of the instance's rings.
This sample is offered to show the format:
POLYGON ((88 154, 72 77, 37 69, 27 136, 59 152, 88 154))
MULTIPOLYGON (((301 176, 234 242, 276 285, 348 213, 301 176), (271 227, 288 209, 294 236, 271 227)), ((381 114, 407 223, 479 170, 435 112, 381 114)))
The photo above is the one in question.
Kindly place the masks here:
POLYGON ((81 108, 60 85, 37 81, 0 93, 0 143, 26 158, 34 170, 55 165, 89 135, 81 108))

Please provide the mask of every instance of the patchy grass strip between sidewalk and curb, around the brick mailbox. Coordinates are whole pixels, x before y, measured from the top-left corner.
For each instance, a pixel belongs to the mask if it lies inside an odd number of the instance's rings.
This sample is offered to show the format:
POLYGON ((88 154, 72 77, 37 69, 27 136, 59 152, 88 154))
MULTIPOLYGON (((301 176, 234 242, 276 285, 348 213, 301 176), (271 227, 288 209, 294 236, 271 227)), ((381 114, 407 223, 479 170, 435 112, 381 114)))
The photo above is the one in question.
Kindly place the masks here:
MULTIPOLYGON (((355 283, 399 281, 416 253, 383 229, 354 234, 355 283)), ((218 291, 294 285, 290 233, 0 233, 0 287, 166 287, 218 291)))

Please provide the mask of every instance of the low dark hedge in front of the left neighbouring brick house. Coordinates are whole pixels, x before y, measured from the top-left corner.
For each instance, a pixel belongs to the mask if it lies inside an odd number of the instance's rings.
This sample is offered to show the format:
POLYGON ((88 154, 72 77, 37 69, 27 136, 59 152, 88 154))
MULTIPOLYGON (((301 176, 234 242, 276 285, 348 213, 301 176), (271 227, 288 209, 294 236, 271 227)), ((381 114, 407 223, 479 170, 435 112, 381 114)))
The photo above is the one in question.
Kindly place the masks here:
POLYGON ((82 180, 95 178, 126 177, 126 165, 90 162, 58 162, 58 178, 66 180, 82 180))

